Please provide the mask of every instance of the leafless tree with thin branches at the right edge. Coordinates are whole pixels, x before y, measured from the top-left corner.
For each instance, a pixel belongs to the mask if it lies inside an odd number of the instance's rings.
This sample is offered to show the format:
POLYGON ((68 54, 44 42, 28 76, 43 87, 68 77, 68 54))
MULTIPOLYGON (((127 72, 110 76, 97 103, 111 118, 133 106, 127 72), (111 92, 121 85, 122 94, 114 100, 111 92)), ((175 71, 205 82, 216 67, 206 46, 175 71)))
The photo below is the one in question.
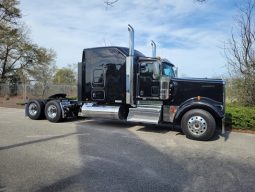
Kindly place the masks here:
POLYGON ((230 75, 239 79, 236 90, 246 105, 255 106, 255 0, 240 7, 234 32, 225 53, 230 75))

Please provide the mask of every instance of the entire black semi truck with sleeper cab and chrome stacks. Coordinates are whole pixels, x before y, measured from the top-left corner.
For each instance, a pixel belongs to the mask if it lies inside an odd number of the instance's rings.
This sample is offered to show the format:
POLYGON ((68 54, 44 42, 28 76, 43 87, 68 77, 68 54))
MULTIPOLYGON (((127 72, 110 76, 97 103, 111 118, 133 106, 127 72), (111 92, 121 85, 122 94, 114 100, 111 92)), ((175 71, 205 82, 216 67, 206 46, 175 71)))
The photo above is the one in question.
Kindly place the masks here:
POLYGON ((51 122, 82 115, 149 124, 180 125, 190 139, 209 140, 224 130, 224 81, 177 78, 174 65, 134 50, 134 29, 128 25, 129 48, 84 49, 78 65, 78 100, 56 94, 30 100, 26 114, 51 122))

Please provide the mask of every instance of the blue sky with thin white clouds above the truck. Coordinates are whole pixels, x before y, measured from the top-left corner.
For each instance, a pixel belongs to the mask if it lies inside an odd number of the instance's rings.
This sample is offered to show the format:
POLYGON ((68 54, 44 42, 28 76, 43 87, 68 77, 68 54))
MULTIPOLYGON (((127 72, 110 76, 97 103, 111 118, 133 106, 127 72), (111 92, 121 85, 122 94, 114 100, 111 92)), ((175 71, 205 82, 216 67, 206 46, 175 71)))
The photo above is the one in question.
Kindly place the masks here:
POLYGON ((241 0, 21 0, 31 39, 57 53, 59 67, 81 61, 84 48, 128 46, 127 25, 135 29, 135 49, 174 63, 181 76, 227 75, 223 46, 233 30, 241 0))

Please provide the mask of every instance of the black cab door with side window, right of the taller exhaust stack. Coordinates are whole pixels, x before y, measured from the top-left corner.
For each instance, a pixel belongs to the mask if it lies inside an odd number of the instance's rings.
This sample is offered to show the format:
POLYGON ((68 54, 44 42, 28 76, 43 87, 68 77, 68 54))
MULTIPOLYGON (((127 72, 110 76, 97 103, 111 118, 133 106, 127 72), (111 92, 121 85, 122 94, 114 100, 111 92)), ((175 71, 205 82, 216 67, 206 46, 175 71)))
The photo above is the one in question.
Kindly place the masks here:
POLYGON ((139 63, 137 76, 137 97, 146 99, 159 99, 160 81, 153 76, 153 63, 139 63))

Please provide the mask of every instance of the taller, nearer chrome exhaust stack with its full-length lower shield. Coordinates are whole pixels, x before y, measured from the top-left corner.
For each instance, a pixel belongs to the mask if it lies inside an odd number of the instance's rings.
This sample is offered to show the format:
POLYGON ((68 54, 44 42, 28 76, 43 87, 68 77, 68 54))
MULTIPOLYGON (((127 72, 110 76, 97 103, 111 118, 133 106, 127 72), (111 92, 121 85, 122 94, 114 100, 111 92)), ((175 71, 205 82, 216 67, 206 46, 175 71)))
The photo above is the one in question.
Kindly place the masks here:
POLYGON ((131 25, 128 25, 129 31, 129 55, 126 58, 126 104, 134 105, 134 35, 135 31, 131 25))

